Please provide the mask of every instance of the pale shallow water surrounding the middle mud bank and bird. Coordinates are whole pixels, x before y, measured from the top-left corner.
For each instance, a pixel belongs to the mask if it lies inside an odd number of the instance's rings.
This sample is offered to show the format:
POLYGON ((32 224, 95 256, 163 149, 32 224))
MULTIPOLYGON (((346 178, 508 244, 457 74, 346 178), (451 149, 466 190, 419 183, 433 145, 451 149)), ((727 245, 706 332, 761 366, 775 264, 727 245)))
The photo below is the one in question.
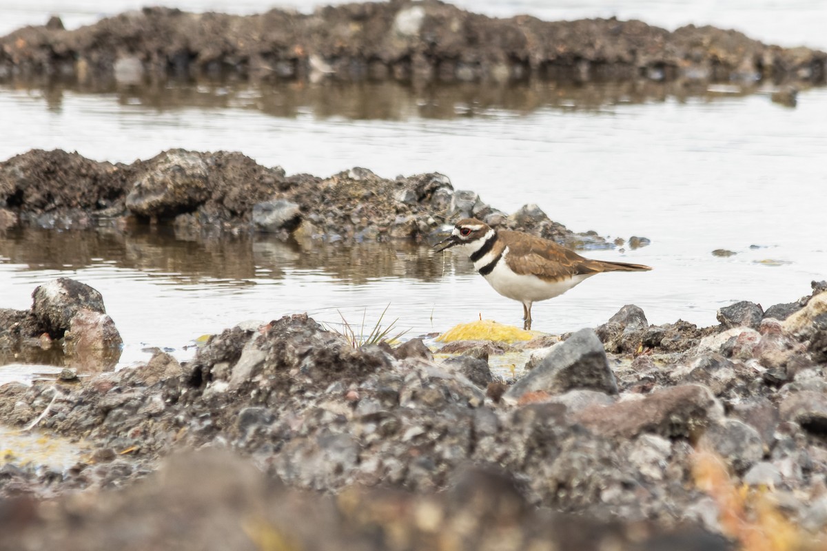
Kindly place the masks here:
MULTIPOLYGON (((633 6, 664 12, 654 3, 633 6)), ((664 6, 697 15, 678 2, 664 6)), ((749 6, 745 16, 778 16, 768 2, 749 6)), ((806 28, 777 20, 791 39, 806 28)), ((183 147, 239 150, 288 173, 319 176, 353 166, 389 178, 438 171, 504 211, 537 203, 572 230, 652 240, 643 249, 586 252, 655 269, 601 274, 535 305, 535 328, 552 333, 599 325, 628 303, 652 323, 711 325, 730 302, 767 307, 808 294, 810 281, 827 275, 827 90, 802 91, 791 109, 772 103, 769 89, 643 88, 201 83, 91 94, 6 87, 0 159, 62 148, 131 162, 183 147), (719 258, 714 249, 738 254, 719 258)), ((364 315, 370 329, 390 304, 384 321, 399 318, 408 336, 480 315, 510 324, 522 316, 466 259, 408 243, 201 242, 146 228, 0 235, 0 307, 30 306, 34 287, 60 276, 103 293, 126 342, 122 364, 145 359, 144 347, 185 357, 200 335, 304 311, 332 325, 341 323, 340 311, 351 323, 364 315)))

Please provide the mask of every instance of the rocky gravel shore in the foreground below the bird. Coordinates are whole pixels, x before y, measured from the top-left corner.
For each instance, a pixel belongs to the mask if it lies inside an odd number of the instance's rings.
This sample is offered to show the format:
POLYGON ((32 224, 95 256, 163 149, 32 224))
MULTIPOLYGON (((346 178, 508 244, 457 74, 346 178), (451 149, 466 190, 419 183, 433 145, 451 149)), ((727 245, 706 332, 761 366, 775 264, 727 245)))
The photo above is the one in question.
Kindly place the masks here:
MULTIPOLYGON (((482 534, 492 549, 535 538, 576 549, 603 549, 603 538, 624 549, 727 549, 718 536, 778 522, 815 540, 827 529, 825 316, 825 283, 766 311, 726 306, 707 328, 650 325, 624 306, 550 348, 548 335, 510 344, 530 351, 531 368, 506 381, 490 373, 495 343, 449 358, 418 339, 355 347, 294 315, 224 330, 188 363, 158 352, 79 382, 6 384, 2 425, 83 440, 90 451, 65 470, 0 469, 0 510, 15 511, 0 515, 3 541, 40 549, 78 515, 88 519, 78 534, 109 541, 119 523, 142 519, 171 541, 151 506, 165 496, 180 500, 176 511, 214 499, 206 518, 234 509, 228 518, 246 522, 227 537, 248 547, 267 534, 313 547, 308 507, 330 511, 323 534, 344 522, 348 544, 370 534, 376 549, 412 549, 469 526, 475 536, 457 549, 480 549, 482 534), (169 458, 182 449, 201 453, 169 458), (268 505, 276 501, 294 508, 268 505), (385 516, 391 510, 399 514, 385 516), (579 520, 557 516, 571 513, 579 520), (486 531, 492 522, 507 530, 486 531), (561 522, 583 523, 594 539, 571 539, 584 535, 561 522), (662 538, 667 547, 647 547, 662 538)), ((210 529, 186 530, 198 538, 210 529)))

